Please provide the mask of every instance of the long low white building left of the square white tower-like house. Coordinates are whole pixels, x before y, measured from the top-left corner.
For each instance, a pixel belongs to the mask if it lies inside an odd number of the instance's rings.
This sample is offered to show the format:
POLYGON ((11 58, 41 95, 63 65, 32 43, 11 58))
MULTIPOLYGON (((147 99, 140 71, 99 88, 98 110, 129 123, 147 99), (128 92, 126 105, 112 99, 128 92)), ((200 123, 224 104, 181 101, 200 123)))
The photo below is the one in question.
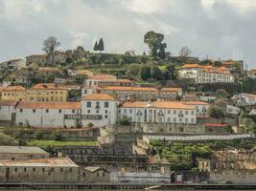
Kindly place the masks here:
POLYGON ((39 128, 77 127, 80 102, 27 102, 16 106, 16 125, 39 128))

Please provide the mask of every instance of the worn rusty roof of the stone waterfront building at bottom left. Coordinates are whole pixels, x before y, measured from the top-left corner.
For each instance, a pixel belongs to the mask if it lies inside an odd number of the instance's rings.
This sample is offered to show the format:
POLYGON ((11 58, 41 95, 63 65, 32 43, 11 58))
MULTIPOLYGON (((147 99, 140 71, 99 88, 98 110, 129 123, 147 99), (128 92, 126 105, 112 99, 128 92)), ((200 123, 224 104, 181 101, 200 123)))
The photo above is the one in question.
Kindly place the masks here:
POLYGON ((0 166, 49 166, 49 167, 76 167, 79 166, 69 158, 27 159, 27 160, 0 160, 0 166))

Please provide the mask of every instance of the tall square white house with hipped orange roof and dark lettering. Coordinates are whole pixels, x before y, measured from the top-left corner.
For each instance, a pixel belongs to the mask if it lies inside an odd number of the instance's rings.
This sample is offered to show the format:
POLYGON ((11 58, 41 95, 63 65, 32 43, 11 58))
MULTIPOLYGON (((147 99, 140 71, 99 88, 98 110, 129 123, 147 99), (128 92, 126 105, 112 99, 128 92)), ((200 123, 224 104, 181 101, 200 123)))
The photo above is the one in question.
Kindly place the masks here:
POLYGON ((115 124, 117 102, 112 96, 106 94, 83 96, 81 100, 81 117, 83 126, 87 126, 89 123, 97 127, 115 124))

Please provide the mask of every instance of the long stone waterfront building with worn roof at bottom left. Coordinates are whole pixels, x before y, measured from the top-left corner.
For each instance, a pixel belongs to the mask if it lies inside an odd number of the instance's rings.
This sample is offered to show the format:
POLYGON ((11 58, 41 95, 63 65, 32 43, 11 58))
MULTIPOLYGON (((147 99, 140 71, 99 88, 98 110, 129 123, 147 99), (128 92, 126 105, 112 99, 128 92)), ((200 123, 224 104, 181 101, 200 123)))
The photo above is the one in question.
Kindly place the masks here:
POLYGON ((69 158, 0 160, 1 182, 78 182, 80 167, 69 158))

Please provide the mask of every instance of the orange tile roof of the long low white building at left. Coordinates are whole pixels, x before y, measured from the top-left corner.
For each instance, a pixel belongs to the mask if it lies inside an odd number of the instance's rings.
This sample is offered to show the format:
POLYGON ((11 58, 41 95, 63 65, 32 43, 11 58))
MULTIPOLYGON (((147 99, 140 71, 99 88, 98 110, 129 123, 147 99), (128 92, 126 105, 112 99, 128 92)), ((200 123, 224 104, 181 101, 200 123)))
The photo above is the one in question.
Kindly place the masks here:
POLYGON ((81 102, 30 102, 30 101, 20 101, 16 108, 80 109, 81 108, 81 102))

